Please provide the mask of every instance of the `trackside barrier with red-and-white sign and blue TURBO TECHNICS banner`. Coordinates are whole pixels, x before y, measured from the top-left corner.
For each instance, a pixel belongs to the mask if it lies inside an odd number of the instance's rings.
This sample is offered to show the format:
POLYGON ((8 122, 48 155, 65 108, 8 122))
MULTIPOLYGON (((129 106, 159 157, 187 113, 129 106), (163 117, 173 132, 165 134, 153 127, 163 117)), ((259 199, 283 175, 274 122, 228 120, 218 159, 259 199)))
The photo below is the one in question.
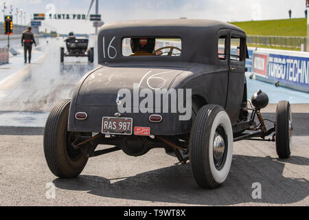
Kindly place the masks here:
MULTIPOLYGON (((298 91, 309 92, 309 53, 249 48, 253 77, 298 91)), ((250 59, 249 59, 250 60, 250 59)))

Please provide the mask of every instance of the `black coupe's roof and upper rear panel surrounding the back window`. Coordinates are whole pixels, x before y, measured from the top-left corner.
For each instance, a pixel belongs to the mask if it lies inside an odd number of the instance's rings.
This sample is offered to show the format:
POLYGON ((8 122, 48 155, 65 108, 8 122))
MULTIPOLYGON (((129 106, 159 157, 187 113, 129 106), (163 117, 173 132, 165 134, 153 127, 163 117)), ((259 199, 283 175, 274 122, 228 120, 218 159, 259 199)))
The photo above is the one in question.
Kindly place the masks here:
POLYGON ((98 34, 99 63, 170 60, 211 64, 215 59, 218 60, 218 34, 224 30, 246 37, 244 31, 235 25, 207 19, 148 19, 106 23, 98 34), (180 57, 122 56, 122 39, 137 36, 180 38, 182 54, 180 57), (108 52, 114 52, 117 56, 109 56, 108 52))

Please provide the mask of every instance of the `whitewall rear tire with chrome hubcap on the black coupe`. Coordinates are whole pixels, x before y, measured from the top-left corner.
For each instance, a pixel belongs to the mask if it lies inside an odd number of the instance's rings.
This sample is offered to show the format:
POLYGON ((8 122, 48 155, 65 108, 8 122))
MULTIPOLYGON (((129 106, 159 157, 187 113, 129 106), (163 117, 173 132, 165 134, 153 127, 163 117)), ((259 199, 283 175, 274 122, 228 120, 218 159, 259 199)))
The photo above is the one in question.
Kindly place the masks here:
POLYGON ((205 105, 198 111, 189 149, 191 169, 198 186, 218 188, 229 175, 233 157, 233 130, 225 109, 218 105, 205 105), (216 155, 215 139, 223 143, 218 145, 216 155))

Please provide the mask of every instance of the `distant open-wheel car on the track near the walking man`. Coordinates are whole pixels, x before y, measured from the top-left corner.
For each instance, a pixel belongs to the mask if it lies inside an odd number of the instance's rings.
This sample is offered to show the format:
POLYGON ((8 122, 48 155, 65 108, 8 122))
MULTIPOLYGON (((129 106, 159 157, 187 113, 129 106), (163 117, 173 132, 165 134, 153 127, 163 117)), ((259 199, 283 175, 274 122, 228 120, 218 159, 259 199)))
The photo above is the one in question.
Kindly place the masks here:
POLYGON ((88 57, 90 63, 93 63, 94 48, 88 48, 88 43, 89 39, 77 39, 73 33, 70 33, 69 37, 65 39, 67 52, 65 52, 65 47, 60 47, 60 62, 65 62, 65 56, 85 56, 88 57))

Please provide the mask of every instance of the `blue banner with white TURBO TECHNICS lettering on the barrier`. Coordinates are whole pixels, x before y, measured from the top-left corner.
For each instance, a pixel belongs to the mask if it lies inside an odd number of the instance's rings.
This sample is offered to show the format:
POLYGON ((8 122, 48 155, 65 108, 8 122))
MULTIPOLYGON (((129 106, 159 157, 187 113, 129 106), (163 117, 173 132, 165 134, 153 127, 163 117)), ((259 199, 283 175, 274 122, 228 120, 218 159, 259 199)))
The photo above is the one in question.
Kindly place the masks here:
POLYGON ((309 58, 269 54, 268 78, 309 87, 309 58))

